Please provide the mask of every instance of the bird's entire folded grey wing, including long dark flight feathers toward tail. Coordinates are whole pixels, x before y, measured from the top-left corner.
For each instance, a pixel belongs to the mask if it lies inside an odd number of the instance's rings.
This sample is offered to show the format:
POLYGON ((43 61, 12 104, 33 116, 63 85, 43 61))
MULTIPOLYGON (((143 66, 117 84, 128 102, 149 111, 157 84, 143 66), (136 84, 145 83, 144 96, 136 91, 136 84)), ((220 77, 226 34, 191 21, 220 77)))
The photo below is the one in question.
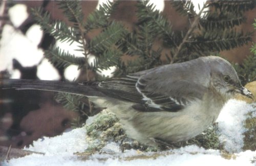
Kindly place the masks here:
POLYGON ((206 90, 186 80, 157 80, 150 75, 112 78, 100 82, 97 89, 114 98, 138 103, 135 105, 138 110, 172 112, 181 110, 196 98, 202 98, 206 90))

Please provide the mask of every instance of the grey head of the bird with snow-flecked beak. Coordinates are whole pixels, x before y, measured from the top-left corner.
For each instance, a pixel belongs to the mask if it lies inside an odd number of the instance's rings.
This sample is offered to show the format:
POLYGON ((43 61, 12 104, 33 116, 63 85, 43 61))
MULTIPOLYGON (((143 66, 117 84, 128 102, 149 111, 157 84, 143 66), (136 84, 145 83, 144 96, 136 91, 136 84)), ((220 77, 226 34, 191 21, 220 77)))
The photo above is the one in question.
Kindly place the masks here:
POLYGON ((231 98, 236 93, 253 99, 252 93, 241 85, 236 70, 227 60, 221 57, 212 57, 209 60, 209 65, 211 67, 210 86, 226 99, 231 98))

